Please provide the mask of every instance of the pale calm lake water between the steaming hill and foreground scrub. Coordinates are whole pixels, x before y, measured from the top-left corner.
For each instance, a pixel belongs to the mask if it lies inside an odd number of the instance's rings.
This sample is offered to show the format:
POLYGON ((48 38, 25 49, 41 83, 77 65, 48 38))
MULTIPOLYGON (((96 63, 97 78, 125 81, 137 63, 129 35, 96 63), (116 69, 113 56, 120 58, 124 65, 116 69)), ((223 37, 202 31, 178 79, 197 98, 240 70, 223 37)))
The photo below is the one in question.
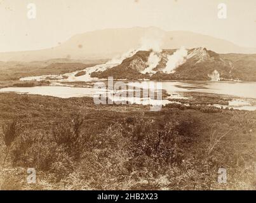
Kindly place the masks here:
MULTIPOLYGON (((146 82, 148 83, 148 82, 146 82)), ((155 82, 158 83, 159 82, 155 82)), ((256 99, 256 82, 212 82, 212 81, 170 81, 161 82, 162 89, 172 95, 172 98, 184 98, 182 93, 199 92, 230 95, 239 97, 230 102, 230 106, 238 109, 256 110, 256 106, 248 103, 248 98, 256 99), (246 101, 247 100, 247 101, 246 101)), ((98 92, 94 88, 76 88, 71 86, 36 86, 32 88, 3 88, 3 92, 27 93, 31 95, 57 96, 60 98, 93 96, 98 92)), ((114 98, 117 100, 117 98, 114 98)), ((149 104, 147 100, 135 102, 149 104)), ((163 102, 166 103, 166 100, 163 102)))

